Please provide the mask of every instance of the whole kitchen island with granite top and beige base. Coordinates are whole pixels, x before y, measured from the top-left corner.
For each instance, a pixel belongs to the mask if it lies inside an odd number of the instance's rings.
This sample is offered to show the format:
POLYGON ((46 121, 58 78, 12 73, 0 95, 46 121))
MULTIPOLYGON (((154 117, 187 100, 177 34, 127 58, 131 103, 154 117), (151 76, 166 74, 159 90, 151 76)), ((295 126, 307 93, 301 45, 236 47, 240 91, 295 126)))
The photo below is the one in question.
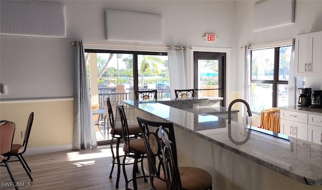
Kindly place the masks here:
POLYGON ((197 109, 123 102, 135 108, 135 116, 173 122, 179 165, 206 169, 213 189, 322 189, 321 145, 267 135, 234 121, 228 124, 197 109))

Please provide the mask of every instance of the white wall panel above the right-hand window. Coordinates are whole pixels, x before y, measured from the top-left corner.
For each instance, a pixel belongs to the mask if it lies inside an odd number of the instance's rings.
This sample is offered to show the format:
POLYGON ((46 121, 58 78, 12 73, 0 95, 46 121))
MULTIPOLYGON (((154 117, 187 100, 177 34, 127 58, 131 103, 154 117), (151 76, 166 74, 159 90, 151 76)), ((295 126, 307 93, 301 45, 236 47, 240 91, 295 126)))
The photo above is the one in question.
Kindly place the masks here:
POLYGON ((295 0, 266 0, 254 5, 254 32, 294 23, 295 0))

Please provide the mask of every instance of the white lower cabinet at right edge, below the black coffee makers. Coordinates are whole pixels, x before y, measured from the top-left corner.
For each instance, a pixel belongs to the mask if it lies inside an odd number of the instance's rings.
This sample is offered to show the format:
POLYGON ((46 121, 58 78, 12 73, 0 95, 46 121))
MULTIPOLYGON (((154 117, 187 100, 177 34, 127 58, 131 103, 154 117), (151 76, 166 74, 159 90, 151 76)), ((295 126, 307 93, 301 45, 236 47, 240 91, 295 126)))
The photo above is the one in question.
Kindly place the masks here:
POLYGON ((307 141, 322 145, 322 116, 308 114, 307 141))

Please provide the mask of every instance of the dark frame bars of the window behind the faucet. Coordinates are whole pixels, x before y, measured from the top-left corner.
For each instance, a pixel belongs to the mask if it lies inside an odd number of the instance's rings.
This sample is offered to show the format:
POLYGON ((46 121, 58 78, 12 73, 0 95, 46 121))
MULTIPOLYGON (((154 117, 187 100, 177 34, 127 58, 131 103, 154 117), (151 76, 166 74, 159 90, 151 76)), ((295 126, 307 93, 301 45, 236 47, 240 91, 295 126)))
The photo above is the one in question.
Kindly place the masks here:
MULTIPOLYGON (((277 107, 277 100, 278 100, 278 85, 288 85, 288 80, 279 80, 279 66, 280 66, 280 48, 281 47, 288 47, 292 46, 291 44, 289 45, 282 45, 282 46, 272 46, 272 47, 265 47, 265 48, 254 48, 251 49, 251 67, 250 67, 250 86, 252 86, 253 83, 255 84, 272 84, 272 107, 277 107), (274 75, 273 75, 273 80, 253 80, 252 79, 252 58, 253 58, 253 51, 255 50, 261 50, 261 49, 272 49, 274 48, 274 75)), ((252 94, 251 88, 249 89, 250 95, 252 94)), ((259 112, 252 111, 252 113, 257 113, 260 114, 259 112)))

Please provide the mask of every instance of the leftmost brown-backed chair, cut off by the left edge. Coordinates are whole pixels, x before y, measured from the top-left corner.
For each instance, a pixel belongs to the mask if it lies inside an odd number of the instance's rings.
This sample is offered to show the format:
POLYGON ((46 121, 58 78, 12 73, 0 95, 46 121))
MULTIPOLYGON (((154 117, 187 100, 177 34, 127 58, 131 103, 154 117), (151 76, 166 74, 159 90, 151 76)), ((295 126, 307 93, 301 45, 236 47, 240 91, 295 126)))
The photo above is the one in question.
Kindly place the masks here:
POLYGON ((0 166, 5 166, 10 178, 14 183, 15 189, 18 190, 17 182, 9 167, 8 161, 11 157, 12 143, 15 136, 16 124, 12 121, 2 120, 0 125, 0 166), (6 155, 5 155, 6 154, 6 155), (4 163, 5 165, 1 165, 4 163))

